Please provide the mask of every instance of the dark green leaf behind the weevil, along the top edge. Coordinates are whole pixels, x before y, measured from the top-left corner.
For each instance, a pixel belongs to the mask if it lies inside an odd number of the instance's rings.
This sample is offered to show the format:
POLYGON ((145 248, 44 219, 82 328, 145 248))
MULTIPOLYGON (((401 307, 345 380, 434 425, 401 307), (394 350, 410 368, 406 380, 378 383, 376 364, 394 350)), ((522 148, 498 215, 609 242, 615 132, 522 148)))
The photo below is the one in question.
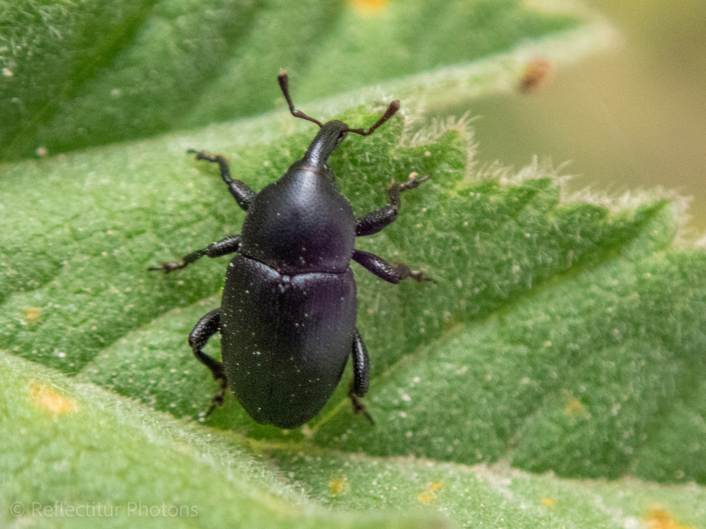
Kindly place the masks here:
POLYGON ((301 104, 581 23, 519 0, 364 4, 3 0, 0 160, 261 114, 281 99, 272 81, 280 67, 301 104))

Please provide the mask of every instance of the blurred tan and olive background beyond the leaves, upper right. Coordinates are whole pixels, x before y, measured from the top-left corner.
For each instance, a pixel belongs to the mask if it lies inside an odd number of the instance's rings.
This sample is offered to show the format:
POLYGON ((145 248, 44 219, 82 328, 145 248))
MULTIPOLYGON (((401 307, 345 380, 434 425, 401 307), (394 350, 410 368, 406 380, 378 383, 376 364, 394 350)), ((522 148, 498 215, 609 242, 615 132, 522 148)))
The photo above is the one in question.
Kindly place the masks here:
MULTIPOLYGON (((621 33, 613 50, 561 66, 539 90, 473 102, 479 161, 534 154, 575 175, 570 190, 663 186, 693 197, 706 231, 706 1, 593 0, 621 33)), ((462 114, 468 108, 457 108, 462 114)))

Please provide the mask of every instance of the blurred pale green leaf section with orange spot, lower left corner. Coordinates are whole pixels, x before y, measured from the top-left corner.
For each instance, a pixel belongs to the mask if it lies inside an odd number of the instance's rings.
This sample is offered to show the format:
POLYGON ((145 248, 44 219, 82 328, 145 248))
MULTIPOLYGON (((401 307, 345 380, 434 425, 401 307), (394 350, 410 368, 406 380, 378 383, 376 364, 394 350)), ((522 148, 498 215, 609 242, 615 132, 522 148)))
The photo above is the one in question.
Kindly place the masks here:
POLYGON ((244 439, 120 399, 1 353, 0 521, 83 527, 429 527, 429 516, 356 521, 306 499, 244 439))

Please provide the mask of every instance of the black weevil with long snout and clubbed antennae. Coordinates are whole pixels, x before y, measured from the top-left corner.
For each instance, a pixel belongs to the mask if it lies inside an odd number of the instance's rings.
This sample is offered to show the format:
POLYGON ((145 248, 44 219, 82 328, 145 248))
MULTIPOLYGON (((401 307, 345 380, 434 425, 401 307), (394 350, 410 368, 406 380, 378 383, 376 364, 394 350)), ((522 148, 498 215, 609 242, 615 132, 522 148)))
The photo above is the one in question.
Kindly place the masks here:
POLYGON ((257 422, 295 428, 321 411, 349 356, 353 358, 349 395, 355 411, 364 411, 359 399, 368 391, 370 367, 356 327, 356 284, 350 260, 390 283, 407 277, 431 279, 407 265, 390 265, 377 255, 356 250, 355 238, 378 233, 393 222, 402 191, 416 188, 426 178, 410 176, 404 183, 393 183, 388 187, 389 205, 356 219, 348 200, 338 192, 326 160, 347 133, 369 135, 394 116, 399 100, 390 103, 368 130, 352 129, 342 121, 322 124, 295 110, 287 73, 280 71, 277 80, 292 115, 321 127, 309 150, 260 193, 234 180, 224 157, 189 150, 196 159, 220 167, 221 178, 247 212, 242 233, 150 270, 168 274, 204 255, 236 254, 228 265, 220 308, 198 320, 189 335, 193 354, 220 382, 211 411, 223 403, 229 386, 257 422), (201 351, 217 332, 222 362, 201 351))

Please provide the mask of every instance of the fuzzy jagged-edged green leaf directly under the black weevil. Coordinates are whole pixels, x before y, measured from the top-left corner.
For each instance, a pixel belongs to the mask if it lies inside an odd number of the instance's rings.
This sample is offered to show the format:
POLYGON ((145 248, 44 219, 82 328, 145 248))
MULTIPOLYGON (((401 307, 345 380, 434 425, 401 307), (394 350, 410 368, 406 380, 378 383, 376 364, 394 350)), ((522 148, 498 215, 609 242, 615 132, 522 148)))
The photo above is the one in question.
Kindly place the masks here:
MULTIPOLYGON (((378 115, 357 109, 342 117, 357 126, 378 115)), ((162 475, 164 468, 154 449, 143 446, 153 442, 151 434, 129 430, 129 442, 116 437, 119 425, 129 421, 138 427, 148 412, 131 404, 117 413, 112 407, 122 401, 116 397, 95 389, 83 397, 87 386, 75 387, 32 366, 76 374, 80 382, 191 420, 179 423, 186 434, 167 428, 160 439, 201 437, 196 419, 216 388, 193 358, 186 336, 198 317, 217 307, 224 260, 198 262, 169 276, 147 268, 237 232, 243 217, 214 168, 183 154, 187 145, 219 147, 231 159, 234 176, 261 188, 311 138, 294 133, 267 142, 258 135, 260 128, 277 130, 287 122, 291 116, 277 114, 191 138, 6 167, 0 204, 4 210, 11 205, 14 214, 4 219, 8 229, 1 246, 6 281, 0 343, 32 360, 8 358, 2 370, 3 387, 18 402, 3 413, 4 437, 13 439, 16 450, 26 450, 25 455, 11 450, 4 460, 24 487, 4 495, 8 504, 98 497, 125 510, 130 506, 128 494, 111 488, 125 479, 119 468, 86 463, 91 470, 101 468, 106 482, 78 491, 73 481, 62 481, 49 469, 56 485, 39 494, 15 466, 38 446, 51 446, 47 436, 59 439, 59 452, 68 450, 87 428, 81 421, 88 420, 109 423, 101 435, 125 443, 122 450, 147 454, 135 464, 145 466, 141 485, 152 491, 148 501, 166 494, 172 504, 181 505, 175 498, 184 497, 204 509, 211 501, 222 504, 217 494, 191 490, 201 487, 198 479, 193 484, 175 479, 172 470, 164 479, 183 483, 184 490, 167 493, 161 481, 152 481, 150 476, 162 475), (77 399, 80 410, 97 406, 94 399, 112 399, 112 407, 100 421, 89 414, 74 423, 71 413, 55 413, 42 422, 36 415, 46 412, 37 411, 42 406, 32 395, 37 384, 47 385, 44 380, 59 380, 49 384, 68 388, 67 398, 77 399), (138 418, 130 416, 133 410, 138 418), (23 427, 17 426, 20 418, 23 427), (28 443, 30 434, 39 440, 28 443)), ((331 159, 357 214, 381 205, 386 183, 407 178, 412 169, 431 177, 405 193, 394 224, 359 241, 359 248, 419 266, 437 280, 392 286, 355 270, 358 325, 373 363, 366 403, 376 425, 352 414, 345 383, 324 411, 298 430, 256 425, 232 398, 208 424, 239 432, 225 439, 237 439, 246 455, 274 461, 285 482, 303 482, 311 499, 346 509, 382 509, 395 518, 400 510, 441 508, 460 523, 508 516, 532 526, 621 525, 664 511, 670 519, 702 523, 702 487, 674 490, 630 482, 616 499, 616 484, 580 484, 484 466, 510 461, 568 478, 704 481, 700 329, 706 317, 706 255, 673 248, 671 202, 646 199, 610 212, 596 203, 561 200, 556 177, 537 166, 513 179, 470 178, 465 123, 446 123, 411 145, 400 135, 407 132, 395 118, 370 137, 347 138, 331 159), (248 443, 247 437, 253 440, 248 443), (493 485, 498 482, 505 485, 493 485), (592 499, 577 501, 587 494, 592 499), (596 501, 605 507, 594 509, 596 501), (528 504, 531 512, 523 507, 528 504)), ((208 352, 217 355, 213 342, 208 352)), ((160 428, 162 422, 172 424, 154 417, 150 420, 160 428)), ((213 440, 220 450, 217 439, 220 434, 213 440)), ((93 442, 97 456, 114 454, 108 440, 93 442)), ((77 458, 82 446, 73 449, 77 458)), ((67 461, 69 468, 78 464, 67 461)), ((213 473, 213 466, 197 463, 189 463, 198 466, 190 473, 213 473)), ((266 480, 259 485, 277 488, 266 480)), ((235 497, 243 494, 229 490, 235 497)), ((270 509, 269 500, 248 505, 242 509, 252 509, 253 516, 270 509)), ((301 519, 315 523, 316 517, 301 519)))

